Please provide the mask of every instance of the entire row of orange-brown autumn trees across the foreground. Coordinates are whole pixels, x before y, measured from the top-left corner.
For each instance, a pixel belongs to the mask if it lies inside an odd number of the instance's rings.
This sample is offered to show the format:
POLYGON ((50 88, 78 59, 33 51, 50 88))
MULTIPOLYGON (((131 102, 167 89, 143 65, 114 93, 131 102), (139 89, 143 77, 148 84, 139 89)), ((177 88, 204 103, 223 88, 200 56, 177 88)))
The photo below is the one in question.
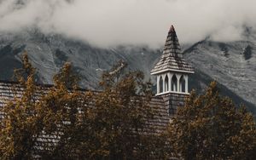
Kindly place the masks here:
POLYGON ((119 61, 103 73, 101 91, 79 89, 70 63, 45 86, 37 84, 24 54, 23 67, 15 71, 14 98, 1 108, 0 159, 256 157, 253 116, 220 96, 215 82, 205 94, 189 95, 166 133, 150 134, 148 120, 157 114, 149 105, 152 84, 125 66, 119 61), (55 138, 45 140, 48 136, 55 138))

